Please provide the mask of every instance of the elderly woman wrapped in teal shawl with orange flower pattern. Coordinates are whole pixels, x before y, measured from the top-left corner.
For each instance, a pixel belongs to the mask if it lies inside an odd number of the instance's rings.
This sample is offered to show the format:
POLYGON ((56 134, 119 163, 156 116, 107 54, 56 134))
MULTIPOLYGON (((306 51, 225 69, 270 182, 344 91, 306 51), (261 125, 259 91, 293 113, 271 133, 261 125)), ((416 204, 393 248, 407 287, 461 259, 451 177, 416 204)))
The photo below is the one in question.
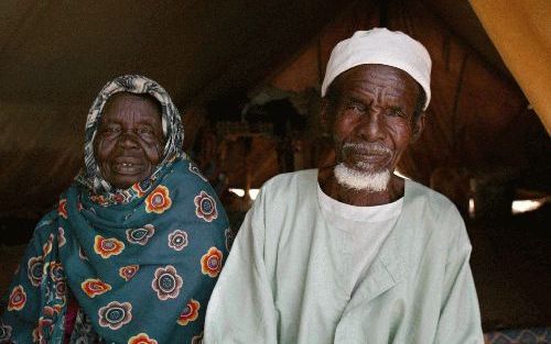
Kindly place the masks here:
POLYGON ((128 75, 104 87, 86 123, 86 168, 36 226, 0 343, 201 341, 229 231, 183 136, 156 82, 128 75))

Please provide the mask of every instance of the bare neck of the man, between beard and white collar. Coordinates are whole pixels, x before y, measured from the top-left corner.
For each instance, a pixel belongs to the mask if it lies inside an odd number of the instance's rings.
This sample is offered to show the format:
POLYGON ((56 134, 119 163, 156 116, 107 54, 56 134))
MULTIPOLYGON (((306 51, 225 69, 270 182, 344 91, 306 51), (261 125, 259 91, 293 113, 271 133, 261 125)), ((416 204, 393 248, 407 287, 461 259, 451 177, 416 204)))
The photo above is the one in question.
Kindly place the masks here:
POLYGON ((334 174, 334 166, 320 168, 317 181, 323 192, 328 197, 352 206, 372 207, 391 203, 403 197, 404 180, 392 175, 386 190, 374 192, 369 190, 354 190, 338 184, 334 174))

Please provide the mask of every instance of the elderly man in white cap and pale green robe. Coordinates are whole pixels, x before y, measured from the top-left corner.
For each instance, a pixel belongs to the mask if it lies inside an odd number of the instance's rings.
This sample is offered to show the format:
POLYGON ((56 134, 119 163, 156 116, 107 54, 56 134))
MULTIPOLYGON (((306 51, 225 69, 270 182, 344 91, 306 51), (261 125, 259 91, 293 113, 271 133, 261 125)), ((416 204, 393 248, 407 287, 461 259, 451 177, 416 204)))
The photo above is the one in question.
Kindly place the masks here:
POLYGON ((430 69, 401 32, 337 44, 322 86, 336 165, 262 187, 209 301, 205 343, 483 343, 462 218, 392 174, 423 129, 430 69))

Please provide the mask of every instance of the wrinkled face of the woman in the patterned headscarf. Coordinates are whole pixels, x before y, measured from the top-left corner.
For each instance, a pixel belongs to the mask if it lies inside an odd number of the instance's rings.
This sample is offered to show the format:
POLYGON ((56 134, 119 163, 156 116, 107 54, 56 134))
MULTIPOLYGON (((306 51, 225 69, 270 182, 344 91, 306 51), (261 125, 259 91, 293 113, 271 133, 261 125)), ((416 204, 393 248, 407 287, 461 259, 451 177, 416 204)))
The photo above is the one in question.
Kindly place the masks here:
POLYGON ((150 99, 117 93, 104 108, 94 152, 104 178, 119 189, 145 180, 163 152, 158 106, 150 99))

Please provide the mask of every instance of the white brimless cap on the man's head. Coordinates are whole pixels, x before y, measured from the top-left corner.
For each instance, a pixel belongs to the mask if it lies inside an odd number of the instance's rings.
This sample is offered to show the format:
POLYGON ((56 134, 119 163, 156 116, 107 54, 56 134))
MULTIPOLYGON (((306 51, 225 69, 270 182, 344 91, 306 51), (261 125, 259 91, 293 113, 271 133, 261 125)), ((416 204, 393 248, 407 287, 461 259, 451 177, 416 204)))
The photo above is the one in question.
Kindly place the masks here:
POLYGON ((367 64, 391 66, 409 74, 424 89, 426 101, 423 110, 426 110, 431 101, 432 62, 429 52, 403 32, 383 27, 357 31, 333 48, 322 84, 322 97, 338 75, 367 64))

